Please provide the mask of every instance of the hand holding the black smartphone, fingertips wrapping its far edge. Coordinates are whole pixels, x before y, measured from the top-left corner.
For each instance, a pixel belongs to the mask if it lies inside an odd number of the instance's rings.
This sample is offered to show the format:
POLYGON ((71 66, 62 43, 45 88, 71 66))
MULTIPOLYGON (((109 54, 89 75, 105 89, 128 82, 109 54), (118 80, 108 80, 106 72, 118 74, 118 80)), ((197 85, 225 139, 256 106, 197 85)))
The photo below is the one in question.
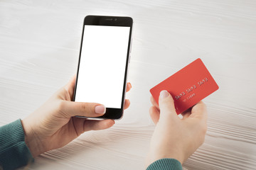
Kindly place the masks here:
MULTIPOLYGON (((51 96, 36 111, 21 120, 25 132, 25 142, 33 157, 67 145, 83 132, 103 130, 112 127, 114 120, 87 120, 75 115, 99 117, 105 114, 105 106, 99 103, 73 102, 75 77, 51 96)), ((127 83, 127 91, 132 88, 127 83)), ((124 102, 124 109, 129 100, 124 102)))

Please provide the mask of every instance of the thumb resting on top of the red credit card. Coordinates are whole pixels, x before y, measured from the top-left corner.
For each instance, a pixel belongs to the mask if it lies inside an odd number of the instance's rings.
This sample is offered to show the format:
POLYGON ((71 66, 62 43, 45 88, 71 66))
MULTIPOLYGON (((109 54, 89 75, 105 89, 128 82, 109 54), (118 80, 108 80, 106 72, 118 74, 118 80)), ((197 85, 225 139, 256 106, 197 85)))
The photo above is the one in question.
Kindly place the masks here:
POLYGON ((168 91, 163 90, 159 95, 159 109, 160 109, 160 119, 168 118, 169 116, 177 117, 177 113, 174 107, 174 99, 168 91))

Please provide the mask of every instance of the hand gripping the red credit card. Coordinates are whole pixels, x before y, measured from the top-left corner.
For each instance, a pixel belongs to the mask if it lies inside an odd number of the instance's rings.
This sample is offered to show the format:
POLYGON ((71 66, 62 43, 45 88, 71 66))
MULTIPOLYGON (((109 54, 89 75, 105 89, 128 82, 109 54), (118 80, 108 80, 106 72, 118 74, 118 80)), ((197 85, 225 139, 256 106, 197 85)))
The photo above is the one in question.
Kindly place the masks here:
POLYGON ((207 111, 203 101, 197 103, 186 113, 183 119, 178 118, 174 99, 168 91, 161 91, 159 106, 151 96, 149 113, 156 124, 151 137, 146 166, 158 159, 173 158, 183 164, 193 152, 200 147, 207 130, 207 111))

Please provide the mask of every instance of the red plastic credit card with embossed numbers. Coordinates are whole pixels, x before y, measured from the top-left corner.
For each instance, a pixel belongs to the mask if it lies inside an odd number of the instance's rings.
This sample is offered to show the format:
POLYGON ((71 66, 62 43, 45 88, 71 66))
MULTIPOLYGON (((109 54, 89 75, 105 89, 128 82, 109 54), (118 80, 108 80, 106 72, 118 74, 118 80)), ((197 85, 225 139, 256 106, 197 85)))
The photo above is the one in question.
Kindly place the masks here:
POLYGON ((218 84, 216 84, 202 60, 198 58, 154 86, 150 89, 150 93, 158 103, 160 92, 162 90, 169 91, 174 98, 176 113, 179 114, 191 108, 218 88, 218 84))

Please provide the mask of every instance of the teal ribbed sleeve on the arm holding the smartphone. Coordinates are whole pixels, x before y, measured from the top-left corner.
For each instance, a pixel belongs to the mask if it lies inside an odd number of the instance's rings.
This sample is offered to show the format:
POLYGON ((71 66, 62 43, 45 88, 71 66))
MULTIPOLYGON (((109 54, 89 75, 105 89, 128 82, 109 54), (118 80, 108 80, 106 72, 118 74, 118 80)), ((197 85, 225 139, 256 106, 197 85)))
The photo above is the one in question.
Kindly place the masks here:
POLYGON ((0 169, 17 169, 33 162, 21 120, 0 127, 0 169))

